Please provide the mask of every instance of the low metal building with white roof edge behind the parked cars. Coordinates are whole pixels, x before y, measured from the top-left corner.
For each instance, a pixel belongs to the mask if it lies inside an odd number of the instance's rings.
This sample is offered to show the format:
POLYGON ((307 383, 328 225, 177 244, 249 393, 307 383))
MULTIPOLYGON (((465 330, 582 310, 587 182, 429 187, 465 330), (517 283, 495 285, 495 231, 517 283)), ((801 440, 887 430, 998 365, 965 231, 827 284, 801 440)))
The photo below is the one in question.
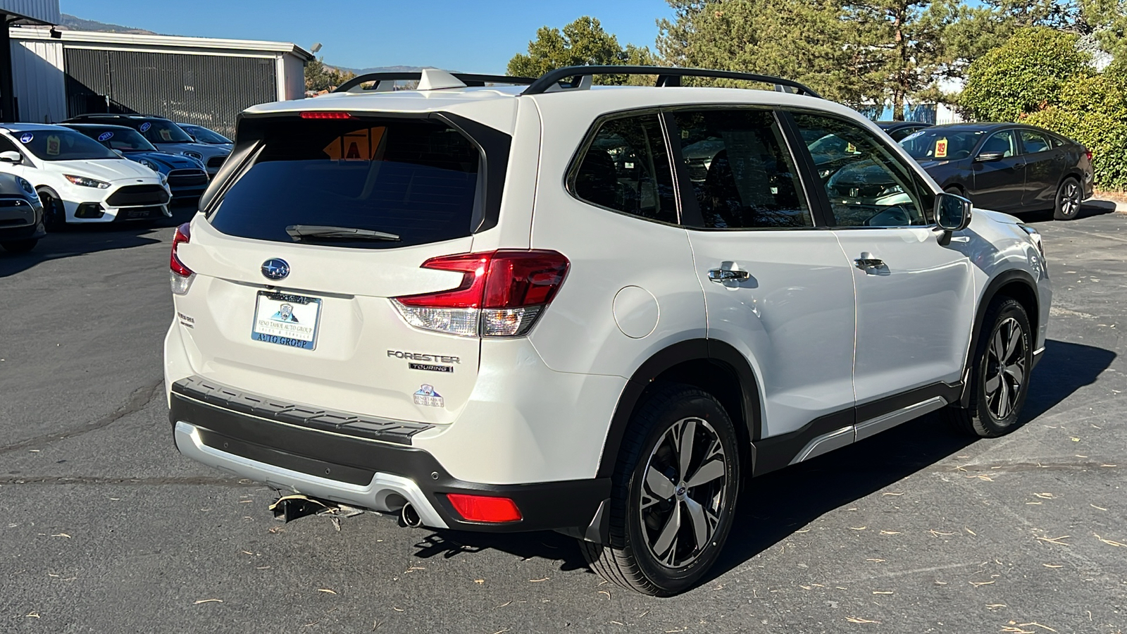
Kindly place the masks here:
POLYGON ((255 104, 305 93, 312 54, 287 42, 10 29, 20 121, 141 113, 234 134, 255 104))

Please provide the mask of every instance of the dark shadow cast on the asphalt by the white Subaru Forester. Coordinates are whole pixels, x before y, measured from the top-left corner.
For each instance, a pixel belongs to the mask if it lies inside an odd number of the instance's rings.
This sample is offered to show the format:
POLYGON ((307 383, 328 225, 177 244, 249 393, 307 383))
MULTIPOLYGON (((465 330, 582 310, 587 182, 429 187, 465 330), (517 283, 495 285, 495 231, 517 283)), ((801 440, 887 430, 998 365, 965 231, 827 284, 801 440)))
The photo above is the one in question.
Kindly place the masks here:
MULTIPOLYGON (((1022 423, 1095 382, 1115 358, 1110 350, 1047 341, 1045 358, 1030 378, 1022 423)), ((728 543, 701 584, 744 564, 829 511, 941 463, 974 442, 938 414, 929 414, 808 463, 746 481, 728 543)), ((421 558, 450 558, 492 548, 522 560, 556 560, 561 571, 587 565, 575 539, 547 531, 490 535, 442 530, 415 547, 415 556, 421 558)))

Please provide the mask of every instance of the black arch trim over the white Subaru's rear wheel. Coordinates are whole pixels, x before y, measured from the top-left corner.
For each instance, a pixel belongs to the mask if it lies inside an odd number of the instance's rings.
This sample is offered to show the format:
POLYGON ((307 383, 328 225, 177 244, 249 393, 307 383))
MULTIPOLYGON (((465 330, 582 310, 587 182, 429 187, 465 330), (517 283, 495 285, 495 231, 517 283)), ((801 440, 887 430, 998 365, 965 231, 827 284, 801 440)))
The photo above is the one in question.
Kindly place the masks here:
POLYGON ((747 359, 738 350, 722 341, 685 340, 654 353, 627 380, 611 417, 611 426, 603 442, 603 455, 598 461, 598 472, 595 477, 606 478, 614 473, 614 465, 618 461, 619 449, 622 446, 627 426, 630 424, 630 417, 646 389, 653 385, 654 379, 666 370, 689 361, 712 361, 735 375, 734 378, 740 386, 743 412, 729 412, 729 415, 734 420, 738 416, 745 422, 747 434, 752 440, 760 438, 762 433, 760 390, 755 380, 755 371, 747 359))

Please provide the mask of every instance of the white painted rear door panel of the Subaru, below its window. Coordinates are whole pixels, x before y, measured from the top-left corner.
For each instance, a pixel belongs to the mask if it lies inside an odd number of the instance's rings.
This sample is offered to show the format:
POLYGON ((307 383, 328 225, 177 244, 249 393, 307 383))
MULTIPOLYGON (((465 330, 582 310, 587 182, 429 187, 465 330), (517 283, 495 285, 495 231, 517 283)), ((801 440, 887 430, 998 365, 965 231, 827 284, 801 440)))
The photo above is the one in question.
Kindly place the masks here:
POLYGON ((829 231, 690 231, 708 336, 752 361, 764 437, 853 405, 852 267, 829 231), (711 268, 747 271, 717 283, 711 268))

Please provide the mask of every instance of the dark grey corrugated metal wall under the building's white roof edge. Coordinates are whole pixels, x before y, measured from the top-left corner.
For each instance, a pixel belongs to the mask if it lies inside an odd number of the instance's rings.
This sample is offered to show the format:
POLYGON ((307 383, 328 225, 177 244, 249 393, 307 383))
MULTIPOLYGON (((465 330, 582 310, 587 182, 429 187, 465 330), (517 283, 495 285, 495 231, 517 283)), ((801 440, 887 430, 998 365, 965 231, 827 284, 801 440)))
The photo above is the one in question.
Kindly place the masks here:
POLYGON ((141 113, 234 137, 236 116, 277 100, 273 58, 64 47, 68 116, 141 113))

